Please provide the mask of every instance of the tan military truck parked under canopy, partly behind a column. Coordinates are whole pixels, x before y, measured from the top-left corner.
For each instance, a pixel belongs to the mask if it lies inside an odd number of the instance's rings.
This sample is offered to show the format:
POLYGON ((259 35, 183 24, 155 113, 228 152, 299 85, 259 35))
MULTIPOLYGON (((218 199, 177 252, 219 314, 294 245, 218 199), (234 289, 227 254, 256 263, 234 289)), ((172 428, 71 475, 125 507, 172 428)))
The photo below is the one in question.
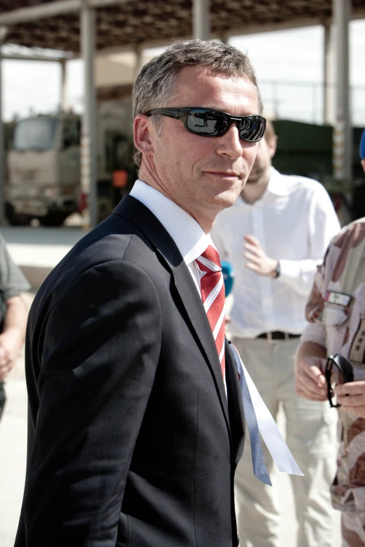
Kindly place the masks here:
MULTIPOLYGON (((135 180, 132 161, 131 101, 98 106, 98 220, 107 217, 135 180), (113 173, 127 174, 113 187, 113 173)), ((78 115, 59 113, 21 119, 7 154, 6 216, 10 224, 60 226, 80 210, 80 131, 78 115)), ((84 203, 85 205, 85 203, 84 203)))

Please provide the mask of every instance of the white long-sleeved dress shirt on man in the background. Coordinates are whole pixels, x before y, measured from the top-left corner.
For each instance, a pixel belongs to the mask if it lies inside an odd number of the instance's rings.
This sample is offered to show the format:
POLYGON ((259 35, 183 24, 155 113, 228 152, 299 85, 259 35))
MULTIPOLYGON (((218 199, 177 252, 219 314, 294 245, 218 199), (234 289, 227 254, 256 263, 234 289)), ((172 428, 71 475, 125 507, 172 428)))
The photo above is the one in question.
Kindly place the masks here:
POLYGON ((322 184, 281 175, 274 168, 262 198, 250 205, 239 197, 220 212, 211 235, 221 261, 234 267, 231 335, 255 338, 273 330, 301 334, 316 267, 340 229, 322 184), (255 235, 266 254, 280 260, 277 279, 245 267, 244 235, 255 235))

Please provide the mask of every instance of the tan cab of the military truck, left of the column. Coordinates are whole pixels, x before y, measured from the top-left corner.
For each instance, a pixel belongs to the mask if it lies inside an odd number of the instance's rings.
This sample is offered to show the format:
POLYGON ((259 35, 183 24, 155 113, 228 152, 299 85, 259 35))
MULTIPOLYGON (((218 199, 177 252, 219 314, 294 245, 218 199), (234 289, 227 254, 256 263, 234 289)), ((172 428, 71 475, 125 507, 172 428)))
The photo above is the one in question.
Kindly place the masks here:
POLYGON ((36 116, 14 129, 8 152, 6 214, 10 224, 62 224, 78 210, 80 117, 36 116))

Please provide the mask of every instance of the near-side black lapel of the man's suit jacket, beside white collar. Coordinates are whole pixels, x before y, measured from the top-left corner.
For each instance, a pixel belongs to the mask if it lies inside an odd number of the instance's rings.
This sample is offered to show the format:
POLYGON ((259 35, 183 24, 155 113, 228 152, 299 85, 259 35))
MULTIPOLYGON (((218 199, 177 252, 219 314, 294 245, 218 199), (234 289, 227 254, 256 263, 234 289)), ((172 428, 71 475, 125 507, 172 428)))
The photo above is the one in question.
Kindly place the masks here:
POLYGON ((131 196, 125 196, 115 207, 114 212, 129 219, 143 231, 145 237, 150 240, 171 271, 180 300, 192 325, 196 342, 199 344, 213 375, 227 428, 230 431, 227 397, 224 391, 220 360, 217 355, 213 333, 199 293, 196 291, 192 275, 183 261, 176 243, 148 207, 145 207, 140 201, 131 196))

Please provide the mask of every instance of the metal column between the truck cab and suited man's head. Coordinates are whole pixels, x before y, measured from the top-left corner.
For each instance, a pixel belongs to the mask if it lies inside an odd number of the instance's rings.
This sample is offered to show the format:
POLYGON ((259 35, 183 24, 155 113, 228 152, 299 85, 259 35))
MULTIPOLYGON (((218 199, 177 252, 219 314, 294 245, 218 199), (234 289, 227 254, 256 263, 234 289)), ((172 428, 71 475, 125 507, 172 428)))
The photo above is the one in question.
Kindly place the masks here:
POLYGON ((81 135, 81 189, 87 198, 92 228, 97 224, 97 113, 94 80, 95 10, 84 3, 80 14, 81 52, 84 59, 85 108, 81 135))

